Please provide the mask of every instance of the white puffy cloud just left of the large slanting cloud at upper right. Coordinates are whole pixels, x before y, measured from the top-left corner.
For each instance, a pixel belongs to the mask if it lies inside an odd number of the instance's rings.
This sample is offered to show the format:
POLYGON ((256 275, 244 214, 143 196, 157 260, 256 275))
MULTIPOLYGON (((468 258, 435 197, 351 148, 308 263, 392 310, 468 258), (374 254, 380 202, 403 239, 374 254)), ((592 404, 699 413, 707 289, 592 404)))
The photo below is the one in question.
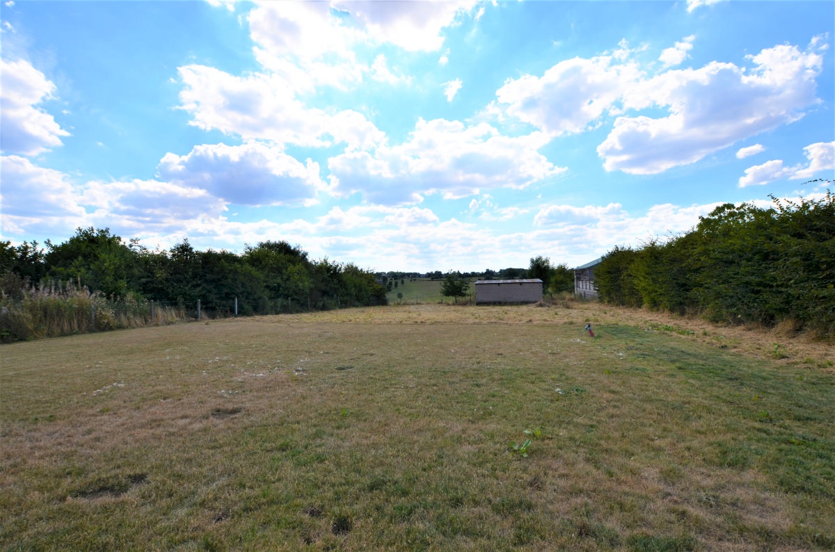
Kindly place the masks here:
POLYGON ((639 77, 634 64, 613 63, 610 56, 573 58, 557 63, 542 77, 507 81, 496 97, 509 115, 559 136, 589 129, 639 77))

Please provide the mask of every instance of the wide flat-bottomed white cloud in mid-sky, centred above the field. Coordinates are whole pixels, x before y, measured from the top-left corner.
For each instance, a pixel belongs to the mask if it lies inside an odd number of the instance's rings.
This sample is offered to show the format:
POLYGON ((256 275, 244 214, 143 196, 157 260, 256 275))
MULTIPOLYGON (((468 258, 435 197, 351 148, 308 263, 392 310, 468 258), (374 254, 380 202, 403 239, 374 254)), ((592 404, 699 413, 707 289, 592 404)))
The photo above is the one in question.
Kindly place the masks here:
POLYGON ((417 203, 423 195, 460 198, 488 188, 524 188, 564 171, 538 148, 542 133, 509 138, 487 123, 418 120, 406 142, 374 152, 343 153, 328 162, 334 193, 367 201, 417 203))

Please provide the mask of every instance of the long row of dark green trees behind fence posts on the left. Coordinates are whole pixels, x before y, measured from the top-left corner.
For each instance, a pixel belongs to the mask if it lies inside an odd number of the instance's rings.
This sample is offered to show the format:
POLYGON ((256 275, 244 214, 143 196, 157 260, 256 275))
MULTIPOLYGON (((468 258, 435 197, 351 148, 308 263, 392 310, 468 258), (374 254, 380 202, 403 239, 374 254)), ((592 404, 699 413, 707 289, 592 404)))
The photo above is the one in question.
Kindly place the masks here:
MULTIPOLYGON (((14 247, 0 242, 0 290, 0 339, 4 340, 53 334, 38 329, 36 323, 13 324, 10 318, 28 308, 37 312, 28 312, 26 319, 44 319, 46 304, 53 312, 66 310, 73 317, 94 320, 93 312, 88 316, 86 309, 97 302, 106 303, 107 309, 99 309, 102 313, 135 305, 145 319, 152 311, 154 319, 160 313, 193 318, 198 304, 202 316, 215 317, 386 303, 386 288, 373 273, 352 263, 311 260, 301 248, 283 241, 247 246, 242 254, 197 251, 188 240, 168 251, 151 251, 135 239, 124 242, 109 228, 78 228, 66 242, 47 241, 43 247, 37 242, 14 247), (56 311, 62 298, 85 305, 85 314, 78 314, 76 307, 56 311), (33 326, 31 334, 28 326, 33 326), (10 328, 16 328, 14 334, 10 328)), ((105 329, 102 324, 99 319, 91 329, 105 329)), ((63 333, 85 331, 74 323, 56 327, 68 328, 63 333)))

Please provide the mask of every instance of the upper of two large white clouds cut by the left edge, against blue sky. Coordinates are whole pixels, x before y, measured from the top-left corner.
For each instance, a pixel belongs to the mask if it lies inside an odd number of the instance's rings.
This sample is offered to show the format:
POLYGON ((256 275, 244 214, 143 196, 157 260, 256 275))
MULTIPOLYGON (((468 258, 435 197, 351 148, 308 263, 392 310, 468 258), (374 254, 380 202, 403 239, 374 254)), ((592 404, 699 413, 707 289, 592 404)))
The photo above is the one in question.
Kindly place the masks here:
POLYGON ((54 99, 55 84, 23 60, 0 60, 0 76, 0 149, 32 156, 60 146, 69 133, 38 107, 54 99))

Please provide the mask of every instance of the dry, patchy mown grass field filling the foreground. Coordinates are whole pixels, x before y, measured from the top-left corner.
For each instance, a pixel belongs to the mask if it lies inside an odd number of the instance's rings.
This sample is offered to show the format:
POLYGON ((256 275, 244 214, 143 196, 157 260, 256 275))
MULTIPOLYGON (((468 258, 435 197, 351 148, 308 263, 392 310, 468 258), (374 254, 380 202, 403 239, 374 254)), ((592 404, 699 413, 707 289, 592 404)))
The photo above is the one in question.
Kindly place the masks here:
POLYGON ((0 547, 835 548, 831 345, 573 307, 4 345, 0 547))

